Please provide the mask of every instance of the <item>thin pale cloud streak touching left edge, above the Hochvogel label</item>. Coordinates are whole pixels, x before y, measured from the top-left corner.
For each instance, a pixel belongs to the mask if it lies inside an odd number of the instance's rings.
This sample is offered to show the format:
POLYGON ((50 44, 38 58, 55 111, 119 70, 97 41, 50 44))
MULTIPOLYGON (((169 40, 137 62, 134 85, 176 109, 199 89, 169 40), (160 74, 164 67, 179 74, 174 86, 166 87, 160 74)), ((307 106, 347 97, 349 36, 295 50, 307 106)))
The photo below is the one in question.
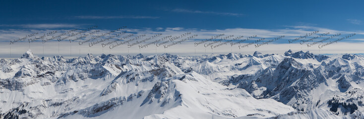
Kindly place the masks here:
POLYGON ((21 28, 73 28, 78 27, 77 24, 1 24, 3 27, 21 27, 21 28))

